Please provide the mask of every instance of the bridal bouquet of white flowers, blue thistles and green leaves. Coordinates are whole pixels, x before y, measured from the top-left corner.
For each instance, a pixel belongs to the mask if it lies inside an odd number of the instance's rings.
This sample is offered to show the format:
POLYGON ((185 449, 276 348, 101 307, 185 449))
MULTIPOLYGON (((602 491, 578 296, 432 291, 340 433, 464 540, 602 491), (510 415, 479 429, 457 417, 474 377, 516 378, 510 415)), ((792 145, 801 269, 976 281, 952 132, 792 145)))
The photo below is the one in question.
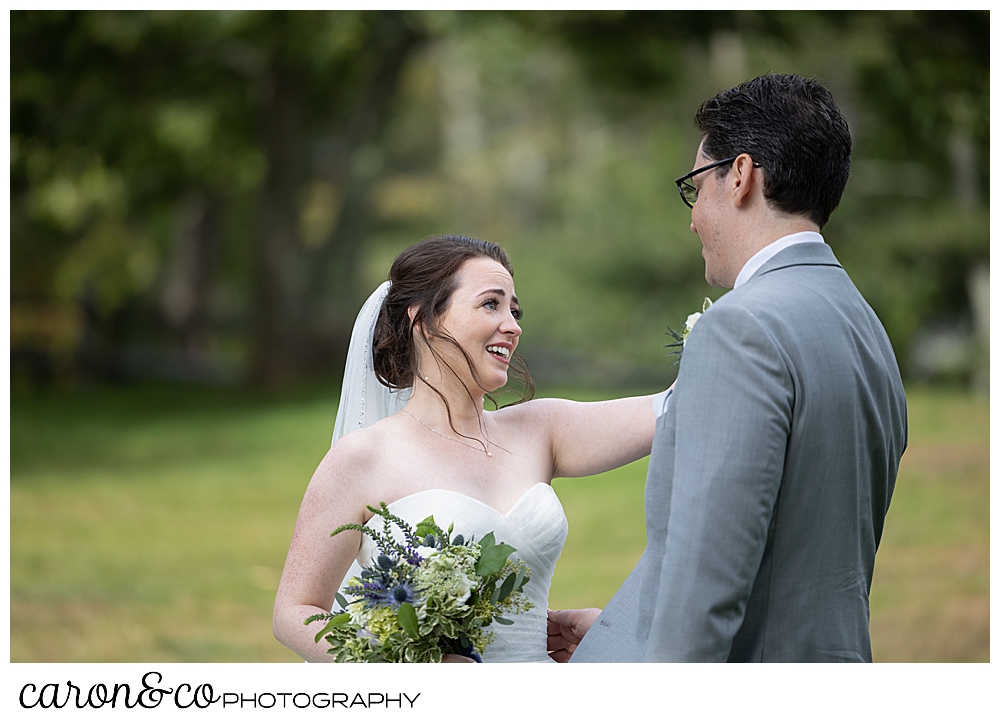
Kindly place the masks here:
POLYGON ((510 558, 514 548, 498 544, 492 532, 478 542, 452 536, 428 517, 414 530, 389 512, 368 507, 384 521, 379 533, 364 525, 344 525, 333 531, 357 530, 371 537, 378 554, 337 593, 340 610, 313 615, 306 625, 327 621, 316 634, 338 663, 439 663, 445 653, 476 658, 493 642, 487 627, 513 625, 505 615, 533 607, 523 588, 530 570, 510 558), (391 526, 402 532, 396 542, 391 526))

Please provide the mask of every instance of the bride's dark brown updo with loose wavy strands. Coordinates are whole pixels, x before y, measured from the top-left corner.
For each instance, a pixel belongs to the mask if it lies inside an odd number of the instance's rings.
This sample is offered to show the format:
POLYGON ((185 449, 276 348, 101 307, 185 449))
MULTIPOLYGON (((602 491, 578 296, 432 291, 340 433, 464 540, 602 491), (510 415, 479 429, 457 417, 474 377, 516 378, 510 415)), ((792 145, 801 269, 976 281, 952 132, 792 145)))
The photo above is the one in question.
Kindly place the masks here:
MULTIPOLYGON (((413 386, 417 370, 413 328, 419 322, 423 327, 424 343, 428 336, 434 336, 453 344, 461 351, 473 379, 479 383, 479 374, 468 352, 438 323, 458 288, 459 269, 474 258, 492 259, 507 269, 512 278, 514 276, 514 267, 506 251, 489 241, 467 236, 434 236, 410 246, 396 257, 389 269, 392 284, 375 322, 372 340, 372 362, 380 382, 392 389, 413 386), (412 322, 407 313, 411 306, 417 307, 412 322)), ((450 369, 433 347, 427 344, 427 348, 450 369)), ((455 373, 454 369, 451 371, 455 373)), ((524 386, 518 401, 530 399, 534 385, 524 360, 516 352, 511 358, 510 374, 524 386)))

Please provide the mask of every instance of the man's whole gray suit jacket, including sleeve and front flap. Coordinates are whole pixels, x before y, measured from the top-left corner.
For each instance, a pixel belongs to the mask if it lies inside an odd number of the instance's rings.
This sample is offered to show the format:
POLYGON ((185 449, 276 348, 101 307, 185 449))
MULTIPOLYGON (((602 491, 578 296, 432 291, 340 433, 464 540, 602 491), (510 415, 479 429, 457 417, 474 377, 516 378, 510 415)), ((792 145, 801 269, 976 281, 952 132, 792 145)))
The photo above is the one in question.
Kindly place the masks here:
POLYGON ((646 551, 574 662, 871 661, 906 448, 889 339, 826 244, 699 319, 646 480, 646 551))

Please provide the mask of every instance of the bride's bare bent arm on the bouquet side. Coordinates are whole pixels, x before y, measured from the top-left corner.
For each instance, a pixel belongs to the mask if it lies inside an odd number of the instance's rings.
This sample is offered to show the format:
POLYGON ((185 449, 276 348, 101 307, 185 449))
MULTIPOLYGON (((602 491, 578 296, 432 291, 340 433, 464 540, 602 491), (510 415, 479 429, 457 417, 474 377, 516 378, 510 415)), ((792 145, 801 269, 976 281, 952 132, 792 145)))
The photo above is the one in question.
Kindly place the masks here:
POLYGON ((314 638, 325 625, 305 619, 330 612, 337 588, 361 545, 361 534, 330 533, 347 523, 364 523, 365 480, 373 451, 367 435, 355 433, 334 445, 309 482, 302 499, 285 569, 274 601, 274 637, 312 663, 332 662, 330 647, 314 638))

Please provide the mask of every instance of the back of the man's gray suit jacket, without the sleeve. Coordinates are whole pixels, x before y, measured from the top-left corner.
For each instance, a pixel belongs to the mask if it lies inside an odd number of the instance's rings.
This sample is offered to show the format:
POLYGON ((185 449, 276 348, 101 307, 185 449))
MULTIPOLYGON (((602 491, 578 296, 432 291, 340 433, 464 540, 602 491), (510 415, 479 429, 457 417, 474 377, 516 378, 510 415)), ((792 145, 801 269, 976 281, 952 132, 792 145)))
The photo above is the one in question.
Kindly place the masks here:
POLYGON ((727 295, 773 336, 794 399, 731 661, 871 660, 868 593, 906 444, 905 398, 888 337, 843 269, 788 264, 806 250, 778 254, 727 295))

